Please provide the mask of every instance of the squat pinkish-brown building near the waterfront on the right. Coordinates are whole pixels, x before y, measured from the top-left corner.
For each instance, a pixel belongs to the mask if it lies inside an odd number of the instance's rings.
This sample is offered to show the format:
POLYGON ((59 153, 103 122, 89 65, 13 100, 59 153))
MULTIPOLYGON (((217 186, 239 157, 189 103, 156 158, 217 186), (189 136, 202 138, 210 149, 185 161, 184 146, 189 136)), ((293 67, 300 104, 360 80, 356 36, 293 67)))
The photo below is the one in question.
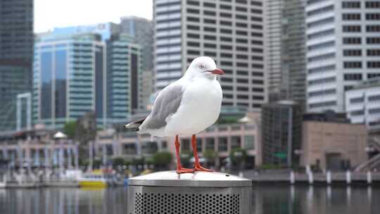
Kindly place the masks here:
POLYGON ((368 157, 367 128, 350 124, 335 113, 310 114, 303 122, 300 165, 315 169, 347 170, 368 157))

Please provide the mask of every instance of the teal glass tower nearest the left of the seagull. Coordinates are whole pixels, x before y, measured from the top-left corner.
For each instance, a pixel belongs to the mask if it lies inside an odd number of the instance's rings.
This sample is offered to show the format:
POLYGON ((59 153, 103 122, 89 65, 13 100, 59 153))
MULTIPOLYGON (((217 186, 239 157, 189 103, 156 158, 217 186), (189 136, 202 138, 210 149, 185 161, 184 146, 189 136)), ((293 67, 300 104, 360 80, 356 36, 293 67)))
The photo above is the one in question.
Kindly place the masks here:
POLYGON ((141 107, 141 50, 128 34, 107 41, 108 123, 125 123, 141 107))

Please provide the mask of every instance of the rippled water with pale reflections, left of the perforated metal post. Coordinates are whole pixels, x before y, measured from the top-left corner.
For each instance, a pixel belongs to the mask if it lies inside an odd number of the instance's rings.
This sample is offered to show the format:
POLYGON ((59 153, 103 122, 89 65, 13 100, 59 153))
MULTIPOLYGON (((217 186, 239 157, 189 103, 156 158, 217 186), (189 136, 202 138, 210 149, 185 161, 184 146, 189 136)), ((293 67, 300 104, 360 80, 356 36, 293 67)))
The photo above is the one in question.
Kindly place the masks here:
POLYGON ((6 189, 0 192, 0 213, 119 214, 126 212, 126 201, 124 188, 6 189))

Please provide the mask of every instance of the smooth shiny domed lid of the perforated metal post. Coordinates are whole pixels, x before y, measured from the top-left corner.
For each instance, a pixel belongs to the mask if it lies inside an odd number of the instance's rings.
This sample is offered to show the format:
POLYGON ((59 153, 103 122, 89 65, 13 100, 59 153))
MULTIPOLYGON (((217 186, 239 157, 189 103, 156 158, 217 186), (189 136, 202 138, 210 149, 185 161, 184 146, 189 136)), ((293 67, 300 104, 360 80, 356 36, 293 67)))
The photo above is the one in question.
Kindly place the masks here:
POLYGON ((132 177, 129 179, 128 185, 156 187, 251 187, 252 181, 223 172, 177 174, 173 170, 132 177))

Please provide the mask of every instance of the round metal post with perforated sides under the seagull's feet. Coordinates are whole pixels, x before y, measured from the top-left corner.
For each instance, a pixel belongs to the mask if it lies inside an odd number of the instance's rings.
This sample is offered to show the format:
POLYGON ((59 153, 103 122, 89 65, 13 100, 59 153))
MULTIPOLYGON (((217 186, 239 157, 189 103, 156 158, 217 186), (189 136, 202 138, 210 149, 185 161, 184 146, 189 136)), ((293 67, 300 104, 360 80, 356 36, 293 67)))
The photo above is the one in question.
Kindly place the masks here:
POLYGON ((129 180, 128 214, 236 213, 250 210, 251 180, 220 172, 156 172, 129 180))

